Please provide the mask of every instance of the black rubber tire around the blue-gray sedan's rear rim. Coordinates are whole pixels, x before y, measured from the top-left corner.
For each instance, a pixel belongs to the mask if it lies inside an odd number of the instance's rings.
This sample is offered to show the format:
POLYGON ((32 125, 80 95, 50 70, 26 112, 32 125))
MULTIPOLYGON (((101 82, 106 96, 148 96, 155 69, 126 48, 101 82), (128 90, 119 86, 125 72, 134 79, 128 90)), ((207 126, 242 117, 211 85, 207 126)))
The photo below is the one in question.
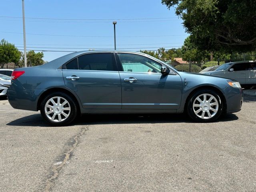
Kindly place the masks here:
MULTIPOLYGON (((43 100, 42 100, 42 103, 41 103, 41 106, 40 106, 40 112, 41 112, 41 115, 42 117, 44 118, 44 120, 48 123, 48 124, 51 124, 53 126, 66 126, 68 124, 70 124, 72 121, 74 121, 74 119, 76 118, 77 114, 78 114, 78 106, 76 106, 76 103, 73 101, 73 99, 68 96, 67 94, 63 93, 63 92, 53 92, 53 93, 50 93, 48 94, 43 100), (50 120, 46 113, 45 113, 45 105, 46 105, 46 102, 50 99, 50 98, 53 98, 53 97, 62 97, 64 99, 66 99, 70 105, 70 114, 69 116, 61 121, 61 122, 54 122, 52 120, 50 120)), ((64 117, 65 118, 65 117, 64 117)))

